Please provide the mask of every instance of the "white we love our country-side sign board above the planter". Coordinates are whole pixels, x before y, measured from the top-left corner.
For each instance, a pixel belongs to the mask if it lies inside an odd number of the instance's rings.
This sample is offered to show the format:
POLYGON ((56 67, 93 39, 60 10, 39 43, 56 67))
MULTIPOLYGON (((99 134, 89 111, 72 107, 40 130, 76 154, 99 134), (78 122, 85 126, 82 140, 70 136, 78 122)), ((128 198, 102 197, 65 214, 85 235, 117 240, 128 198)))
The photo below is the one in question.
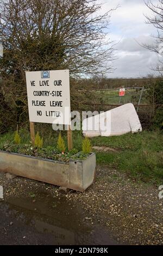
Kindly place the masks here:
POLYGON ((70 125, 69 70, 26 72, 29 121, 70 125))

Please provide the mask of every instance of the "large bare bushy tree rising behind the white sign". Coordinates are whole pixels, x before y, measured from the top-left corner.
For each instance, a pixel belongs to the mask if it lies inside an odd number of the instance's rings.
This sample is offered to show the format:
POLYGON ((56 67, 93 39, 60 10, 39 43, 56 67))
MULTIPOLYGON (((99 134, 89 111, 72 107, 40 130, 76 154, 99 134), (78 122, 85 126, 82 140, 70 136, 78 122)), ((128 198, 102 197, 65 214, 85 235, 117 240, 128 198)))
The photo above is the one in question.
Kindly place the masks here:
POLYGON ((28 116, 25 70, 70 69, 73 78, 111 70, 111 10, 100 10, 96 0, 0 0, 0 76, 15 119, 28 116))

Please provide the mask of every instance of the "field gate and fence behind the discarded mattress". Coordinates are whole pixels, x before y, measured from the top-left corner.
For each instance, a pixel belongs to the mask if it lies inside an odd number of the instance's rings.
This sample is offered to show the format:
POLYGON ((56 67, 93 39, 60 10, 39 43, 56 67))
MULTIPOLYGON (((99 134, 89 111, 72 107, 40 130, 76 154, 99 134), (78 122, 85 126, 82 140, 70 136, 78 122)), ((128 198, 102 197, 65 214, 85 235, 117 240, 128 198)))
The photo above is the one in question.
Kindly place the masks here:
POLYGON ((79 89, 85 95, 85 109, 91 111, 108 111, 115 107, 120 107, 127 103, 133 103, 139 115, 143 127, 152 124, 155 108, 163 105, 154 105, 149 102, 147 88, 127 87, 124 96, 120 96, 120 87, 114 89, 79 89))

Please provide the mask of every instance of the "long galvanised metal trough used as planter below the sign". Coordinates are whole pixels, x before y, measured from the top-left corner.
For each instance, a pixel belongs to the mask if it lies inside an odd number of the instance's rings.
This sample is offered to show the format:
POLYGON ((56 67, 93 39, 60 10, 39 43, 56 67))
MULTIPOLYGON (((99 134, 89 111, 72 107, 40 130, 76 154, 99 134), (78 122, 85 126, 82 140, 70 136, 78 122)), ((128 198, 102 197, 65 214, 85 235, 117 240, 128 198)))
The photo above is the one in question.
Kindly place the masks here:
POLYGON ((65 163, 0 150, 0 171, 72 190, 85 191, 95 181, 95 169, 95 153, 65 163))

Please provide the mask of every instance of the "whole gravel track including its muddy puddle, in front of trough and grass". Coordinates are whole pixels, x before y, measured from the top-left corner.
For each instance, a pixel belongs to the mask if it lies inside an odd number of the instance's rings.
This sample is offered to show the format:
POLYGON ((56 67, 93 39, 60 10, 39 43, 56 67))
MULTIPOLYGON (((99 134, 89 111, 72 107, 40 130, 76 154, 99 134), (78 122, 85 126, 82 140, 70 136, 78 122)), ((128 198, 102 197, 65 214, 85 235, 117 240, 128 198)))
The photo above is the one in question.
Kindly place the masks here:
POLYGON ((60 194, 57 186, 2 173, 0 185, 0 244, 163 244, 158 188, 116 170, 97 167, 96 182, 84 193, 60 194))

